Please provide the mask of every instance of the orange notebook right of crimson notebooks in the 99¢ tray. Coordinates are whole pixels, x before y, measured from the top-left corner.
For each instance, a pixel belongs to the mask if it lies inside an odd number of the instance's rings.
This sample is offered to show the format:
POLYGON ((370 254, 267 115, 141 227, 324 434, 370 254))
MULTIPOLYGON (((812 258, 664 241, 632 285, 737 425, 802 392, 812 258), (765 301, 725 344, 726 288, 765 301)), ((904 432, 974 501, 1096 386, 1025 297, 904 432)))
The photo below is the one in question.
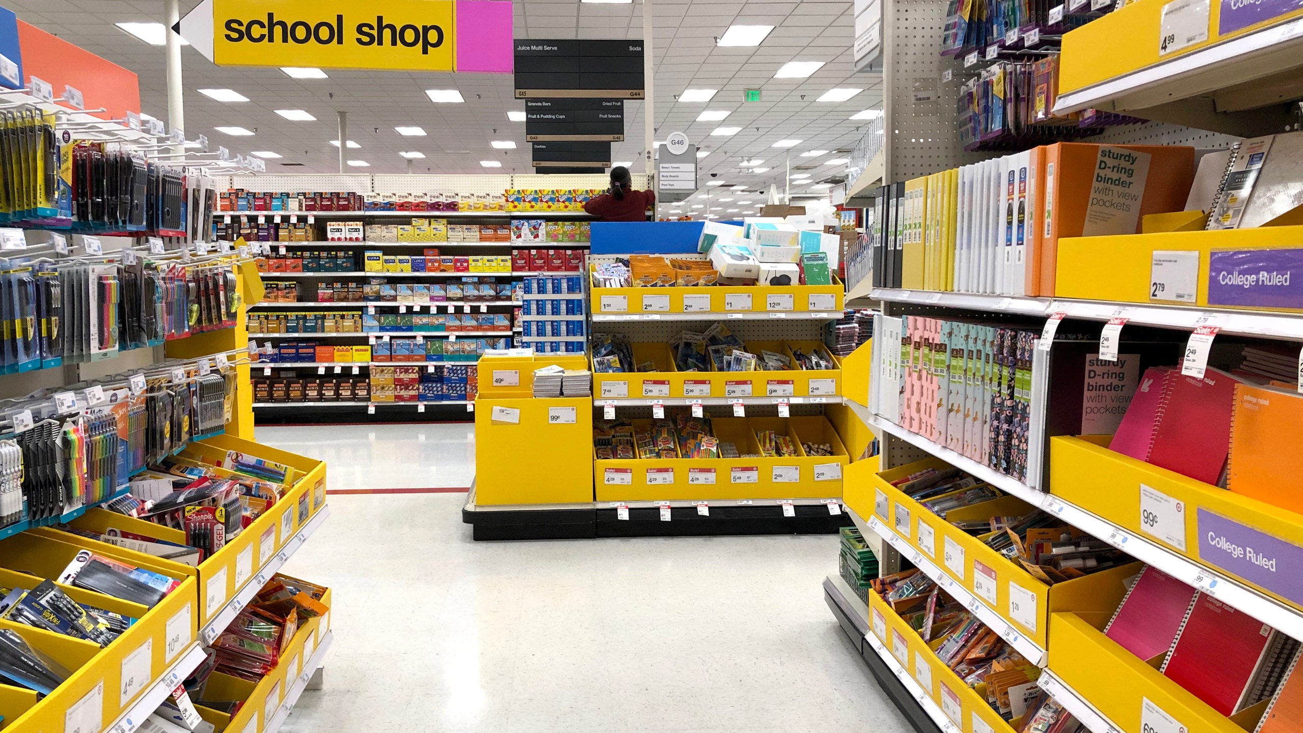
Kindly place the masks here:
POLYGON ((1235 385, 1226 488, 1303 514, 1303 396, 1235 385))

